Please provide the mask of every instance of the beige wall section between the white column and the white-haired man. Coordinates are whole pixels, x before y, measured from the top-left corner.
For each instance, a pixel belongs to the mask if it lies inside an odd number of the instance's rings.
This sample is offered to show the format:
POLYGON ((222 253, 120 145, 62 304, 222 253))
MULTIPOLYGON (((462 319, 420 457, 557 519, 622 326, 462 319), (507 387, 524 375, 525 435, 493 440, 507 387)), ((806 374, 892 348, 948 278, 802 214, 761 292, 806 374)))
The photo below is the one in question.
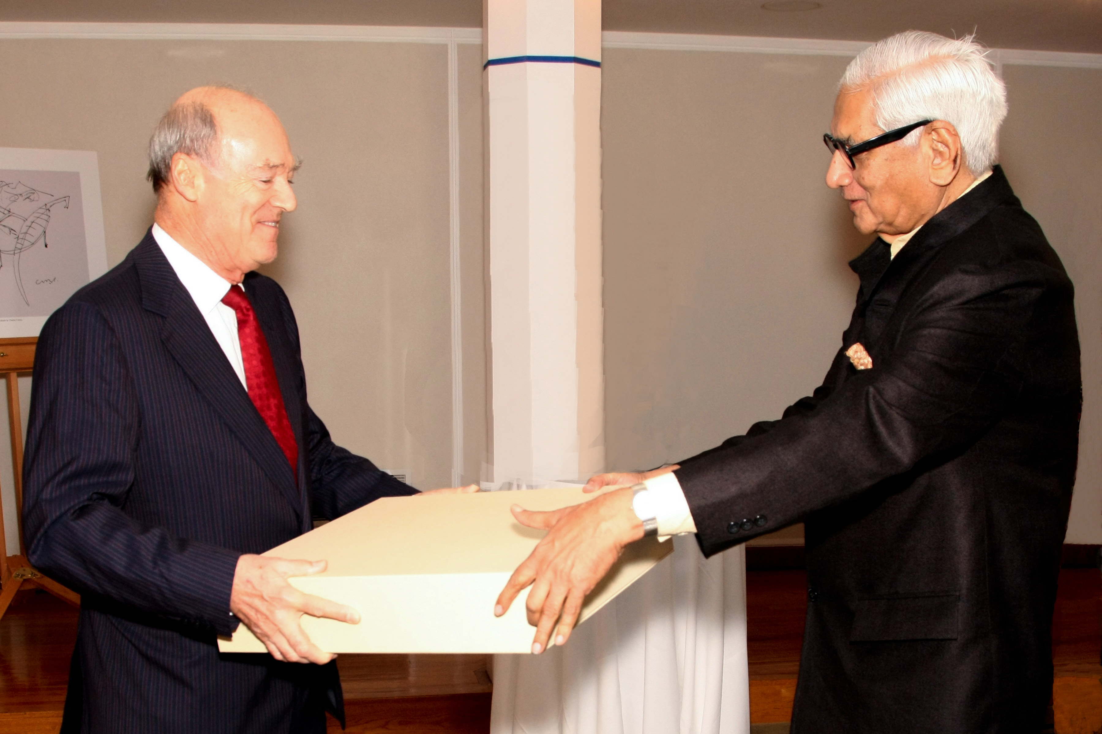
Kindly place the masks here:
POLYGON ((822 381, 867 243, 823 183, 846 61, 605 52, 611 468, 714 446, 822 381))

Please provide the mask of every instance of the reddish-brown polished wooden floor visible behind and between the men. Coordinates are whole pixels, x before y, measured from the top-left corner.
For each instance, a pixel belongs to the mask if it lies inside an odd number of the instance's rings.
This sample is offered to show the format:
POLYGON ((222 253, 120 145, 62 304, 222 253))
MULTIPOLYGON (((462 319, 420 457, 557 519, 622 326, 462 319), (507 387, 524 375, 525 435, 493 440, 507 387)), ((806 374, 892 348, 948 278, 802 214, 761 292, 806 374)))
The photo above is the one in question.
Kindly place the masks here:
MULTIPOLYGON (((799 672, 807 577, 746 574, 750 720, 788 721, 799 672)), ((1102 730, 1096 569, 1063 569, 1054 617, 1054 713, 1058 734, 1102 730)), ((20 592, 0 621, 0 734, 56 734, 76 613, 42 592, 20 592)), ((490 681, 485 656, 343 655, 348 732, 485 734, 490 681)), ((329 722, 329 731, 339 725, 329 722)))

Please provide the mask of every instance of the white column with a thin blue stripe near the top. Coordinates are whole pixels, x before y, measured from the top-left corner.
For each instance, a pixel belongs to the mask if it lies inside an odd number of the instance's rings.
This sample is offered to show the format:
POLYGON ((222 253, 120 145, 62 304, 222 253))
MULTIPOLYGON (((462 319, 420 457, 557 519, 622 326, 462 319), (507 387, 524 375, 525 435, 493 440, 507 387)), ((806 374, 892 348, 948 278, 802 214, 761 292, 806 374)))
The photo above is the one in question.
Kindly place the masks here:
POLYGON ((604 469, 601 2, 486 0, 493 476, 604 469))

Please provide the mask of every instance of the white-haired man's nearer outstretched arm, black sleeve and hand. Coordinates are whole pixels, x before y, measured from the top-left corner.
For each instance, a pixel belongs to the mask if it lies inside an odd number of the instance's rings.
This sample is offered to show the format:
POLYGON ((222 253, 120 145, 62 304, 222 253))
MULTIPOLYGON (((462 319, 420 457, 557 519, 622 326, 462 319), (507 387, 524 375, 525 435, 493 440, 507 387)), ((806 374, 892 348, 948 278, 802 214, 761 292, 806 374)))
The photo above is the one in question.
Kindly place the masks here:
MULTIPOLYGON (((960 272, 912 313, 892 354, 851 375, 813 410, 689 462, 674 475, 684 489, 709 555, 809 512, 875 491, 919 461, 951 456, 973 442, 1015 399, 1028 363, 1023 335, 1042 302, 1070 298, 1031 264, 1000 272, 960 272), (951 286, 951 287, 950 287, 951 286), (732 518, 756 518, 730 532, 732 518)), ((1062 355, 1059 355, 1059 359, 1062 355)), ((1069 384, 1068 399, 1077 385, 1069 384)), ((547 527, 498 599, 504 613, 525 587, 533 650, 565 640, 581 601, 619 555, 641 536, 627 490, 558 513, 515 513, 547 527)))

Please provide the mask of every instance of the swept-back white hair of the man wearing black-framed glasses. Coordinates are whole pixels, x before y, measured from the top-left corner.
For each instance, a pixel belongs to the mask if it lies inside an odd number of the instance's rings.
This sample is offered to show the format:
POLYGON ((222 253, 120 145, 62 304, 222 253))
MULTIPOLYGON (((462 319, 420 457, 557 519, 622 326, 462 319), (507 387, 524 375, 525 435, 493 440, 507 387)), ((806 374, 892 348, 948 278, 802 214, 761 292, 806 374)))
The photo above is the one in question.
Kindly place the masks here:
MULTIPOLYGON (((998 129, 1006 118, 1006 85, 974 35, 947 39, 905 31, 877 41, 857 54, 842 75, 843 90, 868 89, 882 130, 919 120, 953 123, 964 149, 964 164, 982 174, 998 158, 998 129)), ((904 143, 915 145, 921 129, 904 143)))

